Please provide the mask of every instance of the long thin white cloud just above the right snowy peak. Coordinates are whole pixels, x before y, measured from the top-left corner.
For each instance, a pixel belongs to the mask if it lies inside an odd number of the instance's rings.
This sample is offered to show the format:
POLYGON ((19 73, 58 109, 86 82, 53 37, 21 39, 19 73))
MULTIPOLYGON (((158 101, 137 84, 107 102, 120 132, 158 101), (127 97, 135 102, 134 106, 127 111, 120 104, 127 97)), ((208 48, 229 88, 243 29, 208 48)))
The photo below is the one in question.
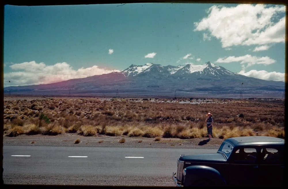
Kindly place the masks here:
POLYGON ((240 62, 240 64, 247 64, 247 67, 252 66, 254 64, 264 64, 269 65, 273 64, 276 61, 274 59, 271 59, 270 57, 257 57, 257 56, 251 56, 251 55, 245 55, 240 57, 230 56, 226 58, 219 58, 217 63, 230 63, 230 62, 240 62))

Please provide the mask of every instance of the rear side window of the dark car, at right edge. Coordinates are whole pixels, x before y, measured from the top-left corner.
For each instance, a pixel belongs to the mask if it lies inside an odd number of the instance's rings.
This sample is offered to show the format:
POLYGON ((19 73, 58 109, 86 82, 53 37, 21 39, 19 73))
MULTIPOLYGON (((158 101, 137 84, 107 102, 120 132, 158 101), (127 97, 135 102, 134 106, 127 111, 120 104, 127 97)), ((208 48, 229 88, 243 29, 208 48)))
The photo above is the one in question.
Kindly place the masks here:
POLYGON ((262 148, 260 164, 283 164, 283 154, 274 148, 262 148))

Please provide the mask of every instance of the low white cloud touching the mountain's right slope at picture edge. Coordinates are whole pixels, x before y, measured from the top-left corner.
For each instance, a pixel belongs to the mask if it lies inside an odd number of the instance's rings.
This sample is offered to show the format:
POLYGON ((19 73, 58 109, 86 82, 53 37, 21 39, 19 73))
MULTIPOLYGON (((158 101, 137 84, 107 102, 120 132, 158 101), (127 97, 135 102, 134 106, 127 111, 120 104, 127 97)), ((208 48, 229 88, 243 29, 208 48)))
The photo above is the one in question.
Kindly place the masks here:
POLYGON ((269 81, 285 81, 285 73, 280 72, 267 72, 265 70, 250 70, 249 72, 245 72, 245 70, 241 70, 238 74, 269 81))

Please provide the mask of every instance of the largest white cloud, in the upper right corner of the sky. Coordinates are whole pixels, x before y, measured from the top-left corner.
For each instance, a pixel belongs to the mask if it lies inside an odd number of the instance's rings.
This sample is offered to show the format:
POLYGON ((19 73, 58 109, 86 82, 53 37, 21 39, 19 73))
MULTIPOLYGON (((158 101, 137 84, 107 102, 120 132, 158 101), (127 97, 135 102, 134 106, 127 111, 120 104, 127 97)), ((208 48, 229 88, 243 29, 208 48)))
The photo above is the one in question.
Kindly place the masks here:
POLYGON ((207 13, 194 23, 194 31, 209 31, 223 48, 285 42, 285 16, 278 19, 279 13, 285 14, 285 5, 213 5, 207 13))

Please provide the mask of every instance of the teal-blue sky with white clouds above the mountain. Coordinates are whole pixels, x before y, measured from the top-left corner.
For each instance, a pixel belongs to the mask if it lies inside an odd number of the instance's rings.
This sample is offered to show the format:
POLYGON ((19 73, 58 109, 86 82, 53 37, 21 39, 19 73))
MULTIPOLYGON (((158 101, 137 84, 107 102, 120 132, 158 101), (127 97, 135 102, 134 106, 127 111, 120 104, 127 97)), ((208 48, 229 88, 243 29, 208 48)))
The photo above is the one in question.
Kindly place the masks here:
POLYGON ((4 7, 4 87, 202 65, 284 81, 285 6, 132 3, 4 7))

